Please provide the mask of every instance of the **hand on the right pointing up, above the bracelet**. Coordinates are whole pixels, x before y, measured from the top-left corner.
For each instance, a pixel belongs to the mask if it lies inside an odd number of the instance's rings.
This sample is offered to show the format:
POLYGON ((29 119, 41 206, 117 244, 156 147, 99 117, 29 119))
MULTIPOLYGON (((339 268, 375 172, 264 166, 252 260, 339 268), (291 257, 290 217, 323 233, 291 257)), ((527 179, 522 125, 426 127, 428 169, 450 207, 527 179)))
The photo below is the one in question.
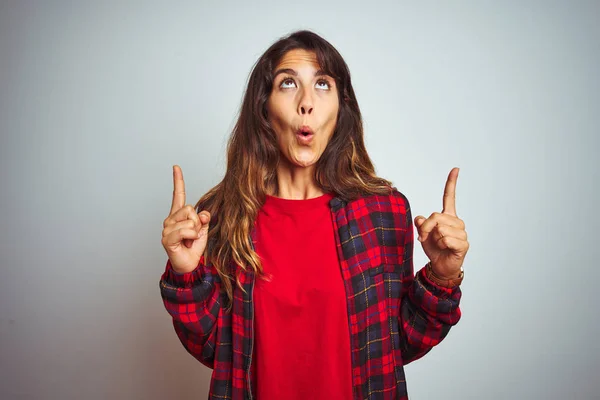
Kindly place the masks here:
POLYGON ((434 212, 425 219, 422 215, 415 218, 419 232, 419 241, 423 251, 431 260, 431 268, 440 278, 452 279, 460 274, 469 242, 465 223, 456 216, 456 180, 458 168, 452 168, 444 189, 443 209, 434 212))

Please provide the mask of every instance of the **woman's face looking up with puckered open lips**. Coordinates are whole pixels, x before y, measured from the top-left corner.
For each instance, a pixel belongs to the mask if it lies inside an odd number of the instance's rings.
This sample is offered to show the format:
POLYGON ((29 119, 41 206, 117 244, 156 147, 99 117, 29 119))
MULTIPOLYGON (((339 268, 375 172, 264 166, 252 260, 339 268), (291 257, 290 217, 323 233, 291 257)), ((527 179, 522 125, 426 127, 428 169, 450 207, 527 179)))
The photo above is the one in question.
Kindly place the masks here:
POLYGON ((323 154, 338 114, 335 81, 319 68, 314 52, 288 51, 275 67, 267 112, 285 159, 314 165, 323 154))

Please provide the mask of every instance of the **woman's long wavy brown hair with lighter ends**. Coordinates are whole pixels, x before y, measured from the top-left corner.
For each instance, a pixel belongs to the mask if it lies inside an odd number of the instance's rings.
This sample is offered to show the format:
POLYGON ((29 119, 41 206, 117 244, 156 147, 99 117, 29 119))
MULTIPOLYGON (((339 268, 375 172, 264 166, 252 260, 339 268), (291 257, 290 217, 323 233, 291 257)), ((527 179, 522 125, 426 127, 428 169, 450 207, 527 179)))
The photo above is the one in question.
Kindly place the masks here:
POLYGON ((302 30, 273 43, 255 63, 240 114, 227 145, 223 180, 196 204, 196 211, 211 213, 205 262, 212 262, 227 293, 231 309, 233 285, 243 290, 239 273, 251 269, 263 276, 253 250, 250 232, 269 190, 277 193, 280 151, 269 123, 266 103, 273 87, 273 72, 290 50, 313 51, 319 67, 335 79, 339 97, 336 128, 315 168, 316 183, 324 192, 350 201, 365 194, 389 193, 391 182, 375 175, 363 141, 360 109, 350 71, 340 53, 319 35, 302 30))

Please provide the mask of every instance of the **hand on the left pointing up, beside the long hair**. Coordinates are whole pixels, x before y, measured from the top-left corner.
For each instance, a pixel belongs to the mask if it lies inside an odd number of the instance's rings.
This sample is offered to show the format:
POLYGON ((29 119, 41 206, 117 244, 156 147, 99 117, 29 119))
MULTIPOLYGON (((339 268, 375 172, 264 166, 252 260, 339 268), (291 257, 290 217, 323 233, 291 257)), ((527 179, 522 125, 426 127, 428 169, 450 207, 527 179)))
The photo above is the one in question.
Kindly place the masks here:
POLYGON ((206 249, 210 213, 196 210, 185 204, 183 172, 173 166, 173 202, 171 212, 163 222, 162 245, 171 266, 176 272, 186 273, 196 269, 206 249))

